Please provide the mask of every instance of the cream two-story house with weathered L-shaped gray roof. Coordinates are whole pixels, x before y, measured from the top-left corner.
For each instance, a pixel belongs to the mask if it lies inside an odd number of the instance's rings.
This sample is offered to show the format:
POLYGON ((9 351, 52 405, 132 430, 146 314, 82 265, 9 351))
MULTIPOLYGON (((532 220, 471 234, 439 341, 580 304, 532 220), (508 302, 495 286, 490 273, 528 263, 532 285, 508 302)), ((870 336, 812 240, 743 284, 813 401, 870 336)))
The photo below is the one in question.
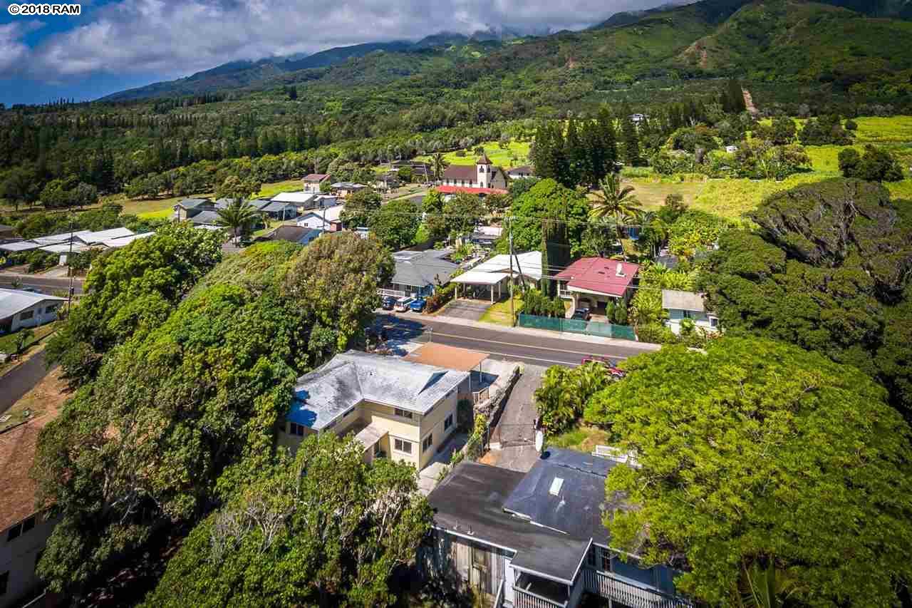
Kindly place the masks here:
POLYGON ((456 404, 469 373, 360 351, 337 354, 298 378, 278 443, 353 433, 364 457, 388 456, 418 470, 456 430, 456 404))

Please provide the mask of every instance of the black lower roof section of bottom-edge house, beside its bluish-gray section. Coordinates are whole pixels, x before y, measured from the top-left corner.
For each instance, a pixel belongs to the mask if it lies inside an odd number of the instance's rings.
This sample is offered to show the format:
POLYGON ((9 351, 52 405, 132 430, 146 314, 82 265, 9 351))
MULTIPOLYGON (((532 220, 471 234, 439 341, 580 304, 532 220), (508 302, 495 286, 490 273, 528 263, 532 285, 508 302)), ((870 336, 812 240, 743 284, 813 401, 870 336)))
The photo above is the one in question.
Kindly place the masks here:
POLYGON ((513 517, 503 501, 524 474, 463 461, 428 496, 434 524, 467 539, 515 551, 513 566, 545 578, 573 582, 589 539, 581 540, 513 517))

